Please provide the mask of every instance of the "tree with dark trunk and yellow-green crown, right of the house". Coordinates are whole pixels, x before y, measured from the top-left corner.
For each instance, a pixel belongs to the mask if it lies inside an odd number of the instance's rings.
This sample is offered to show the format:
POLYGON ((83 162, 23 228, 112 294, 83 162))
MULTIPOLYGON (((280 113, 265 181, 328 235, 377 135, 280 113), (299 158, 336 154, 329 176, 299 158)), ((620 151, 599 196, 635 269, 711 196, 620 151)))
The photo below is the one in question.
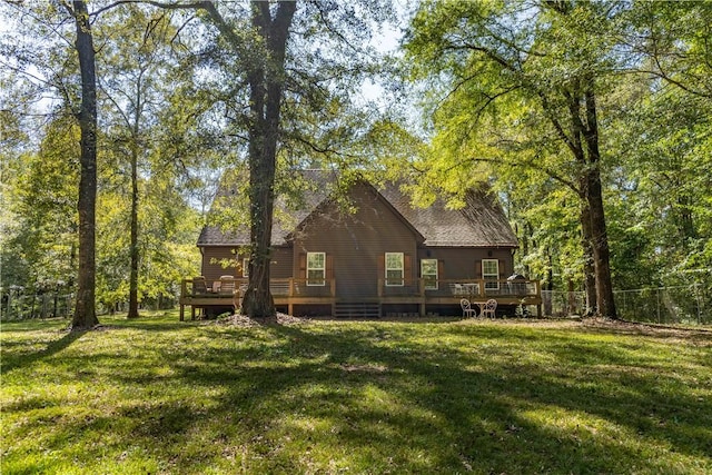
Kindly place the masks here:
POLYGON ((428 2, 406 49, 415 77, 445 78, 433 154, 451 165, 429 170, 535 167, 566 186, 582 204, 596 310, 615 317, 597 108, 612 68, 611 14, 603 3, 428 2))

